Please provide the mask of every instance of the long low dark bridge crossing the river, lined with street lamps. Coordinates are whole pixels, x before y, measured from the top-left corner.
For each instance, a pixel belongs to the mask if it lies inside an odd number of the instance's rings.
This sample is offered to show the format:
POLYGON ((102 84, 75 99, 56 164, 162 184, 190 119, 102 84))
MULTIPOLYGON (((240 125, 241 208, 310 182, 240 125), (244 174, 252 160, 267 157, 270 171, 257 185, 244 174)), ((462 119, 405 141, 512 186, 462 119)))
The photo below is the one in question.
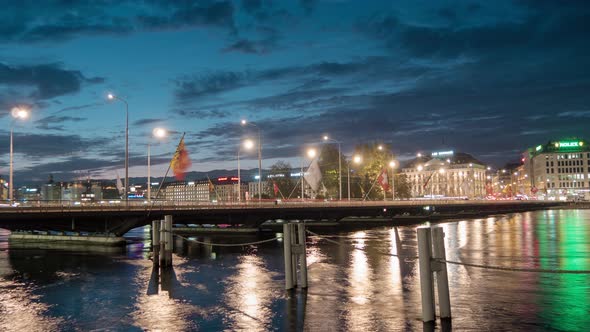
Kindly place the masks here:
MULTIPOLYGON (((134 202, 135 203, 135 202, 134 202)), ((0 228, 11 231, 88 232, 122 236, 129 230, 173 215, 176 224, 230 224, 259 227, 268 220, 340 221, 344 218, 403 220, 475 217, 562 206, 555 201, 328 201, 248 202, 241 204, 187 204, 158 202, 154 205, 88 204, 0 208, 0 228), (423 218, 422 218, 423 217, 423 218)))

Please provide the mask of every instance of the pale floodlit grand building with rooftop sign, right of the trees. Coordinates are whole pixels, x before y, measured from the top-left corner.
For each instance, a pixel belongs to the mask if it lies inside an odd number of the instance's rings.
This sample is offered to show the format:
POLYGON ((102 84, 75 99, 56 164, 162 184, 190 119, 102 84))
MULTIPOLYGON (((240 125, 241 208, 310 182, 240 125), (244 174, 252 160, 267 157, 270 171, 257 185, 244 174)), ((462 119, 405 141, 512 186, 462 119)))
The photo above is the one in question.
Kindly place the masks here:
POLYGON ((412 197, 465 197, 486 195, 486 166, 467 153, 432 152, 410 161, 406 175, 412 197))

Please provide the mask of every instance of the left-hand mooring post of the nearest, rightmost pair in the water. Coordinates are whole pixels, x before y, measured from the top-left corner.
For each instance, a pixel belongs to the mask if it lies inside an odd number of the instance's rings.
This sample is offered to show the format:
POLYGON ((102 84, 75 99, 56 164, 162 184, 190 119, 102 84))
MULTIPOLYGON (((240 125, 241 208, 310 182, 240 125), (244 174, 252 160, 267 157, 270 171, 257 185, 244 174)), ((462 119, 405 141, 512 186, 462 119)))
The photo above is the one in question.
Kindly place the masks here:
POLYGON ((434 321, 434 287, 431 269, 432 242, 430 227, 418 227, 418 257, 420 266, 420 295, 422 298, 422 320, 434 321))

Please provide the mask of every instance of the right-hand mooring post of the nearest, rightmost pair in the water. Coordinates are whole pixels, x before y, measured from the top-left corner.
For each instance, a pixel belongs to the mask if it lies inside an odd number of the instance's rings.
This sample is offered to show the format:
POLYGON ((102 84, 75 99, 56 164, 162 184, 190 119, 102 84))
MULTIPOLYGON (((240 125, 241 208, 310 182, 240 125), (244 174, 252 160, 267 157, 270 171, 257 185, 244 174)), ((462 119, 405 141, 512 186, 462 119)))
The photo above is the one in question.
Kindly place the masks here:
POLYGON ((432 228, 432 248, 433 257, 436 261, 436 288, 438 291, 438 306, 440 318, 451 318, 451 297, 449 294, 449 277, 447 274, 447 264, 440 262, 446 260, 445 253, 445 232, 442 227, 432 228))

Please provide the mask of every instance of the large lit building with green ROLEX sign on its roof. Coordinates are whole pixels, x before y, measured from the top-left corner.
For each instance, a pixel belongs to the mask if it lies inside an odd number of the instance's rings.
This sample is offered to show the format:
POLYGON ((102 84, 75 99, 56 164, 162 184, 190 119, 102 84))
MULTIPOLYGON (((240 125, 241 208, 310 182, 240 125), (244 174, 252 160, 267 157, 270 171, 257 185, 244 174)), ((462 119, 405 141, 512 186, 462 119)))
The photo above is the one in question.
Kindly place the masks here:
POLYGON ((528 149, 525 174, 539 198, 590 199, 590 146, 583 139, 549 141, 528 149))

